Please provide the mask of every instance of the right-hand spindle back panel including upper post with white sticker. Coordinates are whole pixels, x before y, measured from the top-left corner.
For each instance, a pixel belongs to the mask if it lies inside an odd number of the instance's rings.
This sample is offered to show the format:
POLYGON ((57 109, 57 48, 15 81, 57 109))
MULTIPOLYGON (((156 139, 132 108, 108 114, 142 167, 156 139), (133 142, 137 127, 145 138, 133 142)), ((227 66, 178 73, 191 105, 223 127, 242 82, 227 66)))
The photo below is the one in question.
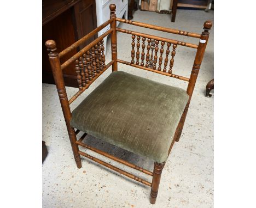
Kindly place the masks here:
POLYGON ((196 78, 202 62, 203 54, 205 53, 205 48, 206 48, 209 34, 210 34, 208 31, 212 27, 212 22, 210 20, 207 20, 203 24, 204 31, 201 34, 197 34, 197 33, 185 32, 178 29, 171 29, 171 28, 159 27, 155 25, 149 25, 146 23, 141 23, 141 22, 136 22, 131 20, 124 20, 119 18, 116 18, 115 20, 130 24, 130 25, 145 27, 145 28, 154 29, 154 30, 160 30, 162 32, 167 32, 172 34, 190 36, 190 37, 199 39, 199 44, 196 45, 196 44, 191 44, 189 42, 162 38, 160 36, 139 33, 139 32, 135 32, 127 29, 121 29, 121 28, 116 29, 118 32, 132 35, 131 36, 131 39, 132 39, 131 62, 126 62, 124 60, 119 60, 119 59, 117 59, 117 62, 130 65, 136 68, 152 71, 161 75, 182 79, 183 81, 189 82, 187 93, 190 96, 189 98, 189 102, 190 102, 191 96, 193 94, 196 78), (142 44, 141 44, 141 41, 142 41, 142 44), (164 50, 165 45, 166 45, 166 50, 164 50), (190 47, 190 48, 196 49, 194 65, 191 70, 191 74, 189 78, 173 74, 172 72, 172 68, 174 65, 174 57, 176 55, 176 48, 178 46, 190 47), (136 60, 135 60, 135 57, 136 57, 136 60), (146 60, 145 60, 145 57, 146 57, 146 60))

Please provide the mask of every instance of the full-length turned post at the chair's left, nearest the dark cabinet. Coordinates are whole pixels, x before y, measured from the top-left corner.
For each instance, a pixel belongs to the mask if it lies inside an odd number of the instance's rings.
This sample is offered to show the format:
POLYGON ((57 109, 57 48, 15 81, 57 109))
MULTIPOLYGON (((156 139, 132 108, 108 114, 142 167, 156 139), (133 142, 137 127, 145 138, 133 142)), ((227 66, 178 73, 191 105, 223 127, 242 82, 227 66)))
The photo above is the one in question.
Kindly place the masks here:
POLYGON ((66 93, 62 70, 61 70, 60 58, 58 53, 56 52, 57 50, 56 43, 54 40, 48 40, 45 42, 45 45, 48 48, 47 50, 49 51, 48 56, 50 60, 51 70, 53 71, 54 81, 56 84, 57 92, 59 94, 61 108, 66 121, 68 136, 72 146, 75 162, 77 163, 77 167, 81 168, 82 163, 81 163, 80 155, 78 153, 79 151, 78 145, 75 144, 77 137, 75 136, 74 129, 70 125, 71 111, 68 104, 68 97, 66 93))

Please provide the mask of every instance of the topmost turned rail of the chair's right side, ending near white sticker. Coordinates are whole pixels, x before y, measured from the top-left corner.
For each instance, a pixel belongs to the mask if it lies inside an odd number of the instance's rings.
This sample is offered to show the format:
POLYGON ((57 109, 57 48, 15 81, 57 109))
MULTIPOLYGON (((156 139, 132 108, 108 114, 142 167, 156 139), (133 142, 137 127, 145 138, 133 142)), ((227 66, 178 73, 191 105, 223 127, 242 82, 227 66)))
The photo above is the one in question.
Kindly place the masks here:
POLYGON ((120 19, 120 18, 116 18, 115 20, 117 20, 118 22, 123 22, 123 23, 130 24, 130 25, 135 25, 135 26, 139 26, 139 27, 146 27, 146 28, 160 30, 160 31, 163 31, 163 32, 173 33, 173 34, 177 34, 177 35, 190 36, 190 37, 193 37, 193 38, 200 38, 201 37, 200 34, 185 32, 185 31, 178 30, 178 29, 160 27, 160 26, 150 25, 150 24, 147 24, 147 23, 125 20, 125 19, 120 19))

